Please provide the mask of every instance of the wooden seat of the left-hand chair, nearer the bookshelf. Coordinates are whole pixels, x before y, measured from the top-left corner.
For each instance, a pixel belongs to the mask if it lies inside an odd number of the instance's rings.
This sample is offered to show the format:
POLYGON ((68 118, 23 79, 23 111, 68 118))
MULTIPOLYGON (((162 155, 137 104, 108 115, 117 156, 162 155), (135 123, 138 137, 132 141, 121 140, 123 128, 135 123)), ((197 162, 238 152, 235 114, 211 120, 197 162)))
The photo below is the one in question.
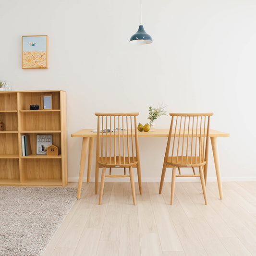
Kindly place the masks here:
POLYGON ((137 166, 137 158, 136 157, 130 157, 130 162, 129 162, 129 158, 125 157, 125 162, 124 162, 124 157, 120 157, 116 156, 116 161, 115 161, 115 157, 100 157, 98 164, 100 167, 108 167, 108 168, 124 168, 124 167, 136 167, 137 166), (111 158, 111 162, 110 162, 110 158, 111 158), (120 161, 121 160, 121 161, 120 161))

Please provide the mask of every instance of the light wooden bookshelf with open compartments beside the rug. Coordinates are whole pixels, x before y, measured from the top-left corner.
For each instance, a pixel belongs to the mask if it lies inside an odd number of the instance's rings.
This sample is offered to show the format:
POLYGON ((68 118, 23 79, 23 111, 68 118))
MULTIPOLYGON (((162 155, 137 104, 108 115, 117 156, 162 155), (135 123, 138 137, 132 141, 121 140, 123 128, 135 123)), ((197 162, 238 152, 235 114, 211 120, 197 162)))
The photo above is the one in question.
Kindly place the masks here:
POLYGON ((0 185, 65 186, 67 169, 66 92, 0 92, 0 185), (52 110, 41 106, 42 95, 52 95, 52 110), (39 105, 39 110, 30 110, 39 105), (32 154, 22 156, 21 136, 29 134, 32 154), (58 156, 37 155, 37 134, 51 134, 58 156))

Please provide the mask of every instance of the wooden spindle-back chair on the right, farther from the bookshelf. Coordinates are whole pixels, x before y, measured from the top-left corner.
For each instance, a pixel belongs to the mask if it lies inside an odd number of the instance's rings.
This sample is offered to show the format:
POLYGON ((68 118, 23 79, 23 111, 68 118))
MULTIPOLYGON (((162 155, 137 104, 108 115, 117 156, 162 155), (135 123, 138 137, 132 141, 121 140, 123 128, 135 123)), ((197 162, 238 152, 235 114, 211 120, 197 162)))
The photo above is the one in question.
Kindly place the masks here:
POLYGON ((170 113, 171 126, 165 151, 159 194, 162 191, 166 168, 172 167, 171 205, 173 204, 176 177, 200 177, 205 204, 207 205, 203 167, 208 160, 209 126, 210 116, 212 115, 213 113, 170 113), (173 129, 173 127, 175 128, 173 129), (170 147, 171 156, 169 155, 170 147), (179 170, 178 175, 176 175, 176 167, 179 170), (192 168, 193 174, 181 174, 181 167, 192 168), (195 167, 199 168, 199 175, 195 174, 195 167))

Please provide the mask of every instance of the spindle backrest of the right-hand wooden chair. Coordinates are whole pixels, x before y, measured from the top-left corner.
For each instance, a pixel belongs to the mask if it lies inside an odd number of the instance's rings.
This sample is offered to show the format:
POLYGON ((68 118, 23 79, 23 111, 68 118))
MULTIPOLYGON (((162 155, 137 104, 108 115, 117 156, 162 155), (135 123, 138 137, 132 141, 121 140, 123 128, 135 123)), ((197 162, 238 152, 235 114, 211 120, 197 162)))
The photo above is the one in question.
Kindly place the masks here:
POLYGON ((212 115, 213 113, 170 113, 171 126, 165 157, 169 157, 171 148, 171 162, 175 157, 176 163, 183 159, 186 165, 207 160, 212 115))

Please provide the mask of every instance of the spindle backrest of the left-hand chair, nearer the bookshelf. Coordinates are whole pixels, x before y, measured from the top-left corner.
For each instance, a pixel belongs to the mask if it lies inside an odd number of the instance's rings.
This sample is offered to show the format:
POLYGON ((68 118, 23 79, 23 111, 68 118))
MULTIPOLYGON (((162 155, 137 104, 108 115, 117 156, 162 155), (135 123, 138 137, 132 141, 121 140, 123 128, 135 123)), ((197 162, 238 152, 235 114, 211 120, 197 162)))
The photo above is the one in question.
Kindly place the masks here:
POLYGON ((138 152, 136 116, 139 113, 95 113, 97 125, 97 161, 127 164, 138 152), (128 157, 128 158, 125 158, 128 157))

